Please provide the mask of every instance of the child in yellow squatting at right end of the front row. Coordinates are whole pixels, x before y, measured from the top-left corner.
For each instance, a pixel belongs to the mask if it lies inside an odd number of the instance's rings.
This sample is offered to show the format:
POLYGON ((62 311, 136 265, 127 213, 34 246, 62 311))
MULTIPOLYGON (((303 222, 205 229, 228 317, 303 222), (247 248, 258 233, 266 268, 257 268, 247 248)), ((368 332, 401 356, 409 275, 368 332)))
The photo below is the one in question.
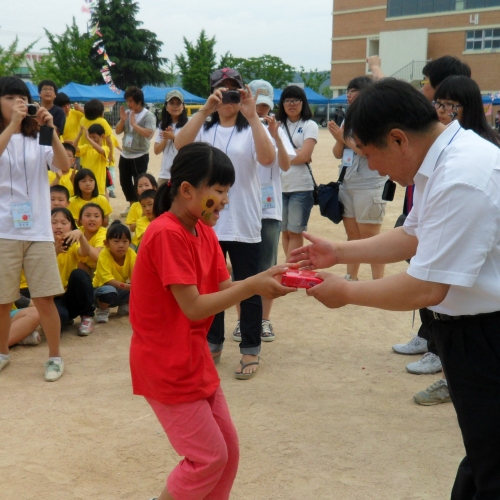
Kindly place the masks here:
POLYGON ((118 306, 118 314, 128 314, 130 280, 137 258, 130 241, 129 228, 115 220, 108 228, 94 275, 97 323, 109 321, 110 307, 118 306))

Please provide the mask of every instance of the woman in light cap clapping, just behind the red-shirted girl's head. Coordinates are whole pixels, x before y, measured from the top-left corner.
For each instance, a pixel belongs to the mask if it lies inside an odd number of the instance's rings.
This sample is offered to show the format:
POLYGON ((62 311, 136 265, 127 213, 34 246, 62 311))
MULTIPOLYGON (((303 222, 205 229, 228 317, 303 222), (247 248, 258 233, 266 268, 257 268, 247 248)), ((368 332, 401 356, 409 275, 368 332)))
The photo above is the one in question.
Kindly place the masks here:
POLYGON ((178 90, 171 90, 165 97, 165 104, 161 112, 161 121, 158 126, 154 151, 155 155, 163 153, 161 159, 158 186, 170 179, 170 167, 177 155, 174 138, 177 132, 187 123, 188 117, 184 107, 184 96, 178 90))

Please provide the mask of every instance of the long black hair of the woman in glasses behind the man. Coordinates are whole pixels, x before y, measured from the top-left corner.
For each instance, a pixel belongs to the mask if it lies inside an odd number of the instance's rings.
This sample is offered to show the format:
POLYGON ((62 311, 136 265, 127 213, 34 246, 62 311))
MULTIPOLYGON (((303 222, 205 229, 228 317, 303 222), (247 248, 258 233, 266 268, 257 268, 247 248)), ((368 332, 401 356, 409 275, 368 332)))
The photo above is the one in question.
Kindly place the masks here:
POLYGON ((488 125, 478 84, 467 76, 449 76, 437 88, 434 100, 449 99, 462 105, 460 125, 500 147, 500 136, 488 125))

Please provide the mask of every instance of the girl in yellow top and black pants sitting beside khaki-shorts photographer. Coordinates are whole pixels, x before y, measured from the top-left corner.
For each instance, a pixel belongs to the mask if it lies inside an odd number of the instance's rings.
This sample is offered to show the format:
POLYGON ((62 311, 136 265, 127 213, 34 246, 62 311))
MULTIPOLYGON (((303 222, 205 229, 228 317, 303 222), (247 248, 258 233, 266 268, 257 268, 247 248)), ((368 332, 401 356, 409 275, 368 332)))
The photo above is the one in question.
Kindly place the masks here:
POLYGON ((67 208, 54 208, 51 212, 57 265, 64 293, 54 298, 61 325, 80 316, 78 335, 87 336, 93 332, 94 293, 89 275, 78 269, 78 263, 90 254, 90 245, 77 229, 67 208))

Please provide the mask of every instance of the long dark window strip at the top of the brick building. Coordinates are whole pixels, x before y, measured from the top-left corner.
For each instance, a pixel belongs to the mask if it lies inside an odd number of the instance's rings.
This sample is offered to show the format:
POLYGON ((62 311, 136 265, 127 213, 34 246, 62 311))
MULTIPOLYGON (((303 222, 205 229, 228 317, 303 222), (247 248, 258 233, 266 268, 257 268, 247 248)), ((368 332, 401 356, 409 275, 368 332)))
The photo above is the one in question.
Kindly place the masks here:
POLYGON ((500 7, 500 0, 388 0, 387 17, 418 16, 486 7, 500 7))

